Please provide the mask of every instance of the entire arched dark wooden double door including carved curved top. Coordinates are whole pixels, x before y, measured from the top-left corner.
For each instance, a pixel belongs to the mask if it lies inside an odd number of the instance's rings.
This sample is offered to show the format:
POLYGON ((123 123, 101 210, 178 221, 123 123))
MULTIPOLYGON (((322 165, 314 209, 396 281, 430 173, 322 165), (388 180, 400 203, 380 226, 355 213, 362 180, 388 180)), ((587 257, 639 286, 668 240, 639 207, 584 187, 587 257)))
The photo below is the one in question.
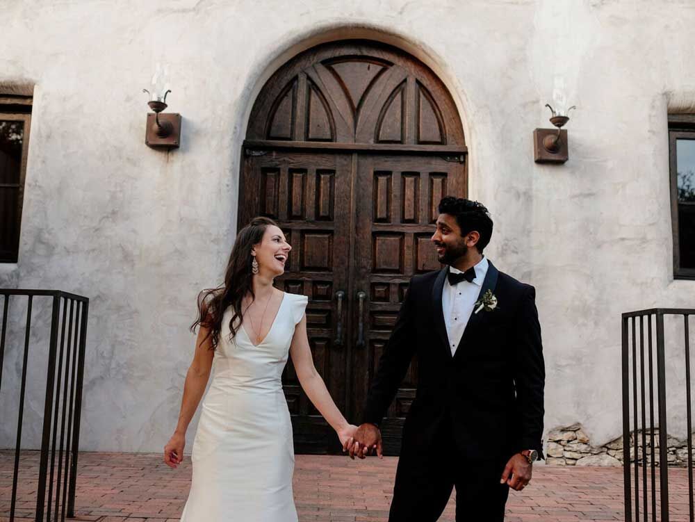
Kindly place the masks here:
MULTIPOLYGON (((243 154, 239 225, 267 215, 284 229, 293 251, 276 284, 309 297, 316 368, 357 423, 409 278, 441 267, 430 243, 436 205, 467 193, 455 104, 429 68, 398 49, 322 44, 265 84, 243 154)), ((391 455, 416 380, 415 362, 384 421, 391 455)), ((283 382, 295 450, 340 452, 291 362, 283 382)))

